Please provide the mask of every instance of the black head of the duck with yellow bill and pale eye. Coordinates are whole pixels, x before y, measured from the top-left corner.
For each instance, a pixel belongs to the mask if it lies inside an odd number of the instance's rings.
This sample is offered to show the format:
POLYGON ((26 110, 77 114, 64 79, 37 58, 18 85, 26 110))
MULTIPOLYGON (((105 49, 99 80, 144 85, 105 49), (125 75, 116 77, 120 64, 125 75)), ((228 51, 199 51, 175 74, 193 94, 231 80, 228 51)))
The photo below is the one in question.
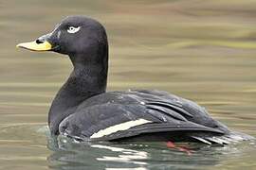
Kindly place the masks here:
POLYGON ((31 51, 53 51, 74 58, 107 57, 108 43, 103 26, 85 16, 69 16, 53 31, 17 47, 31 51))

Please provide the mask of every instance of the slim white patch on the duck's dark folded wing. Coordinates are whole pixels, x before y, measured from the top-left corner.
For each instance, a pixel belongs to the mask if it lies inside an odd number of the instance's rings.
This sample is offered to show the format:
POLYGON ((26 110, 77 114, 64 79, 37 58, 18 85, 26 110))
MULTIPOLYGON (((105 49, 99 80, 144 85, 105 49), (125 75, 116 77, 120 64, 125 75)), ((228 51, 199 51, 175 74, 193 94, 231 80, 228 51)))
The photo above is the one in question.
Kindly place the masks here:
POLYGON ((152 121, 148 121, 145 119, 137 119, 135 121, 129 121, 129 122, 124 122, 121 123, 119 125, 115 125, 112 127, 106 127, 105 129, 101 129, 100 131, 94 133, 90 138, 101 138, 105 135, 110 135, 112 133, 115 133, 119 130, 127 130, 131 127, 137 127, 139 125, 143 125, 143 124, 147 124, 147 123, 151 123, 152 121))

